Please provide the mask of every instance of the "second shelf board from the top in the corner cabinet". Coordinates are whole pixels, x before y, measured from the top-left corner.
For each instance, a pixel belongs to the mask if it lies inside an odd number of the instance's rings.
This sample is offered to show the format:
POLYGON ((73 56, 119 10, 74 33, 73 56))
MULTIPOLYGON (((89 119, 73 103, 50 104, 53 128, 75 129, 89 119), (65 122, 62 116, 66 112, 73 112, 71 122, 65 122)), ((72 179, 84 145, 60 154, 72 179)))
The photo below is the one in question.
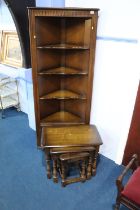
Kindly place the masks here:
POLYGON ((39 75, 87 75, 88 72, 80 71, 74 68, 70 67, 57 67, 57 68, 52 68, 52 69, 47 69, 47 70, 42 70, 41 72, 38 73, 39 75))

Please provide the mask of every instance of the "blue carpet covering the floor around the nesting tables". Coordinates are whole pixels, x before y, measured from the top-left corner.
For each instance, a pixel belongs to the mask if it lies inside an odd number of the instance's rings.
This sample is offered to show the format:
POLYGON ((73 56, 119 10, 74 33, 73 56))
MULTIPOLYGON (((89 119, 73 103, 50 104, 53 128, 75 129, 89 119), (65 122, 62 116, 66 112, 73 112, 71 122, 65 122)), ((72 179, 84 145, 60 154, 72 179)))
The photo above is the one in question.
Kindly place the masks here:
POLYGON ((100 155, 95 177, 62 188, 46 177, 44 156, 27 115, 15 109, 5 114, 0 119, 0 210, 113 209, 122 166, 100 155))

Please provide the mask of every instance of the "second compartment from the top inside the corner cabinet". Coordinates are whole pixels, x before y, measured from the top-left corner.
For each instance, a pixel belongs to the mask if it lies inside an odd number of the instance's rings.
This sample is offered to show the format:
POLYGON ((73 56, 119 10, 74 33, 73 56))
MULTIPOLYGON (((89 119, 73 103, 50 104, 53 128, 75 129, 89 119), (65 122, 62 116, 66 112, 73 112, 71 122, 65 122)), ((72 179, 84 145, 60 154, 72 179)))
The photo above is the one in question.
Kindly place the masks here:
POLYGON ((37 72, 89 72, 89 54, 89 50, 37 50, 37 72))

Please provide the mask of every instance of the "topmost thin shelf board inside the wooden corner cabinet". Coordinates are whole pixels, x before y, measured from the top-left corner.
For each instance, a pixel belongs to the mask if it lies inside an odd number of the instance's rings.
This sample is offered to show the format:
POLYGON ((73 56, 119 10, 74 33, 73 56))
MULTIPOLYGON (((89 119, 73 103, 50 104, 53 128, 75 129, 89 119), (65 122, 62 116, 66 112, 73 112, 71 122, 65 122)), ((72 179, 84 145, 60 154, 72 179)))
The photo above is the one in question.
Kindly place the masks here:
POLYGON ((73 44, 47 44, 43 46, 37 46, 37 49, 88 50, 89 47, 73 44))

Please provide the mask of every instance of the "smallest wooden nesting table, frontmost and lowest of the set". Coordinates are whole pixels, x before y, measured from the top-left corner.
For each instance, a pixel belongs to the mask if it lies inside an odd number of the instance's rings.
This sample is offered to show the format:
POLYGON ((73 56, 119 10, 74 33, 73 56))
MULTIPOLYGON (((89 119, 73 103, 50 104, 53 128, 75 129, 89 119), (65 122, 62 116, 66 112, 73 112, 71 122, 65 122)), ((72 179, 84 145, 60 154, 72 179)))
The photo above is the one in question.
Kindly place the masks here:
POLYGON ((84 153, 68 153, 60 155, 60 171, 62 177, 62 186, 65 187, 67 184, 75 182, 85 182, 86 181, 86 162, 88 161, 90 154, 87 152, 84 153), (66 167, 71 162, 81 163, 81 173, 80 177, 74 177, 67 179, 66 177, 66 167))

